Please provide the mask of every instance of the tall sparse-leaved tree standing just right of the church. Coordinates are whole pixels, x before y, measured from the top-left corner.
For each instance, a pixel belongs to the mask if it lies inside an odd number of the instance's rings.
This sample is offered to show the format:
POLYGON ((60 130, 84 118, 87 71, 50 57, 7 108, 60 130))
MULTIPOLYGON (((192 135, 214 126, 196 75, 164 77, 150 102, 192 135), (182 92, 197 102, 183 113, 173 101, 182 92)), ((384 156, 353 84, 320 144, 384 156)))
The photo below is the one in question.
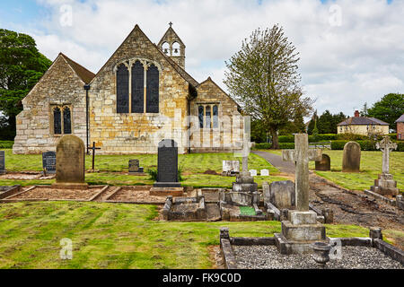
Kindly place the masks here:
POLYGON ((278 25, 255 30, 244 39, 242 49, 229 62, 224 73, 228 90, 250 117, 262 121, 272 136, 272 148, 279 148, 277 133, 293 121, 296 113, 306 117, 312 100, 303 98, 298 53, 278 25))

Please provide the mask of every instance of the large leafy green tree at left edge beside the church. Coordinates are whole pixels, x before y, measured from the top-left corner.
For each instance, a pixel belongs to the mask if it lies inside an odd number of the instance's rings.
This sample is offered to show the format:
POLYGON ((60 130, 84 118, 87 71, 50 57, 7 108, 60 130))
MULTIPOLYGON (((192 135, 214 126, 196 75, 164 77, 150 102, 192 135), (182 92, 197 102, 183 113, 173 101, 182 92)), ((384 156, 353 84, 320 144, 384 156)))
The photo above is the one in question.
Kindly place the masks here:
POLYGON ((7 121, 2 128, 12 131, 8 139, 15 136, 15 116, 22 110, 21 100, 51 64, 31 36, 0 29, 0 111, 7 121))

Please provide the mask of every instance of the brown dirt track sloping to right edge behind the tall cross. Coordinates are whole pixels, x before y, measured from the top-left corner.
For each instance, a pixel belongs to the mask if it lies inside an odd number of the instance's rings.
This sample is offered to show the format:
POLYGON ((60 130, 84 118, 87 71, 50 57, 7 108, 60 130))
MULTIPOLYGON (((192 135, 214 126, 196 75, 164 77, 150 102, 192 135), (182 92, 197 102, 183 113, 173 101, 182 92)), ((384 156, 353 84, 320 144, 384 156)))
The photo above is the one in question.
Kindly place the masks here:
MULTIPOLYGON (((319 209, 332 209, 335 223, 404 230, 404 213, 398 208, 366 196, 362 191, 338 187, 314 174, 310 176, 310 201, 319 209)), ((404 248, 404 239, 394 241, 396 246, 404 248)))

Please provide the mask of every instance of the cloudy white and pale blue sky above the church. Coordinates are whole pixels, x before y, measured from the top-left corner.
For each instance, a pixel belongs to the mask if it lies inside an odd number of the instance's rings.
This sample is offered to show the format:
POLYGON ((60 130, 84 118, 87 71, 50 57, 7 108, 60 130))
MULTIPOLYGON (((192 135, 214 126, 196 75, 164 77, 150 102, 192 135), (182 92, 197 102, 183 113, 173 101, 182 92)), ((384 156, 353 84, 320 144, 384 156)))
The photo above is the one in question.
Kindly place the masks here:
POLYGON ((364 102, 404 93, 403 15, 402 0, 2 0, 0 28, 28 33, 49 59, 63 52, 96 73, 136 23, 157 43, 173 22, 189 74, 225 90, 224 61, 253 30, 279 23, 300 52, 315 109, 352 116, 364 102))

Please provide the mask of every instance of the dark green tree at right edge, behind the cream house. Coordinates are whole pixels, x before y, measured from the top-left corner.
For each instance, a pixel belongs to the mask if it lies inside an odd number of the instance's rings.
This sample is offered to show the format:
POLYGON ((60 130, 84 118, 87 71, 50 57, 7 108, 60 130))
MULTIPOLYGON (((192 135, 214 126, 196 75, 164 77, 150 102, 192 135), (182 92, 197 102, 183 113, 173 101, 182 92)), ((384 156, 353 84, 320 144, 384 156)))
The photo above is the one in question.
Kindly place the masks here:
POLYGON ((389 93, 367 110, 368 117, 376 117, 395 128, 394 122, 404 113, 404 94, 389 93))

